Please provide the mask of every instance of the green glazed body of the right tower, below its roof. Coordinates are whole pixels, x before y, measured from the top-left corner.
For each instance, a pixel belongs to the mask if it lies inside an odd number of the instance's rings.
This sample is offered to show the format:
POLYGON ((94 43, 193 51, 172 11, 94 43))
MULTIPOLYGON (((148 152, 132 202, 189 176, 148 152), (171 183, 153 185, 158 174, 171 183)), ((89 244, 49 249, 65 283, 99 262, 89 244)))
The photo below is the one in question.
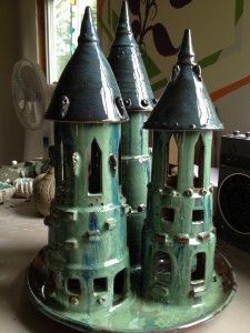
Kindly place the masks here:
POLYGON ((143 295, 166 304, 194 304, 209 293, 213 281, 216 235, 212 224, 210 165, 212 132, 179 132, 178 172, 170 174, 168 145, 171 138, 156 131, 152 180, 142 235, 143 295), (196 186, 194 149, 203 142, 202 186, 196 186), (199 212, 197 212, 199 211, 199 212), (194 212, 194 213, 193 213, 194 212), (201 213, 201 218, 196 216, 201 213), (199 220, 199 221, 197 221, 199 220))

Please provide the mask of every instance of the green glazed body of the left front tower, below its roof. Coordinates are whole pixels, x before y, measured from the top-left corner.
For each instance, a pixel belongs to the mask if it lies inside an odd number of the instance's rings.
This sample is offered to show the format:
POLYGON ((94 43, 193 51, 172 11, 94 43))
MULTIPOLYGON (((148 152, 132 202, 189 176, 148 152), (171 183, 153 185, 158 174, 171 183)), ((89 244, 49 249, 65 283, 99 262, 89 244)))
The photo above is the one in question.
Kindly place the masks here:
POLYGON ((56 199, 47 218, 48 305, 107 312, 129 294, 126 215, 116 165, 119 139, 120 124, 56 123, 56 199), (101 160, 99 193, 89 193, 93 142, 101 160), (119 273, 124 279, 118 287, 119 273))

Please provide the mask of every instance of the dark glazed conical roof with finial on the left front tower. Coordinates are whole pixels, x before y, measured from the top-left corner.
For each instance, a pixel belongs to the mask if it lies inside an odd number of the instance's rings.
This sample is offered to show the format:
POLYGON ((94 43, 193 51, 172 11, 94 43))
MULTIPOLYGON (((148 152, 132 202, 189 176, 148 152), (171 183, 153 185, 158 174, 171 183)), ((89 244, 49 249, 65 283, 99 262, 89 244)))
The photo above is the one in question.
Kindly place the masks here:
POLYGON ((89 7, 78 48, 59 79, 46 118, 82 123, 128 120, 116 78, 100 49, 89 7))

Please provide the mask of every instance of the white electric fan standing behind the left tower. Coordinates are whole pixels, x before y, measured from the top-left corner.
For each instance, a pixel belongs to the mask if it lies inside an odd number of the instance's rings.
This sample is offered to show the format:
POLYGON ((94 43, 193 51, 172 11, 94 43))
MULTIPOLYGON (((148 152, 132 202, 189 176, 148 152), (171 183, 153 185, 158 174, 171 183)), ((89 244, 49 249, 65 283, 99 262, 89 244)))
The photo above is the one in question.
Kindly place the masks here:
POLYGON ((12 94, 19 121, 26 130, 24 161, 47 158, 44 145, 51 143, 52 130, 43 121, 54 85, 48 84, 41 68, 27 59, 13 67, 12 94))

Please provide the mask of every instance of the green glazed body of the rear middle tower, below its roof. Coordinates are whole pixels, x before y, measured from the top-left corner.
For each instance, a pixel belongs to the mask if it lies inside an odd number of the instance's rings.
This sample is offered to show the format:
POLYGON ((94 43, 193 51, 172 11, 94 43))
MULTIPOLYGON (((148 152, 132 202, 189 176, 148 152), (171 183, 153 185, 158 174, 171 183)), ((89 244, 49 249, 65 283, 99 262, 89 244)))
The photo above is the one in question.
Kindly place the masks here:
POLYGON ((147 184, 150 181, 149 134, 143 130, 147 119, 147 112, 131 113, 130 122, 122 125, 121 134, 121 183, 122 193, 131 206, 127 224, 132 265, 140 264, 141 229, 146 218, 147 184))

